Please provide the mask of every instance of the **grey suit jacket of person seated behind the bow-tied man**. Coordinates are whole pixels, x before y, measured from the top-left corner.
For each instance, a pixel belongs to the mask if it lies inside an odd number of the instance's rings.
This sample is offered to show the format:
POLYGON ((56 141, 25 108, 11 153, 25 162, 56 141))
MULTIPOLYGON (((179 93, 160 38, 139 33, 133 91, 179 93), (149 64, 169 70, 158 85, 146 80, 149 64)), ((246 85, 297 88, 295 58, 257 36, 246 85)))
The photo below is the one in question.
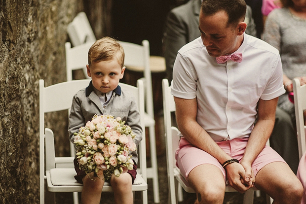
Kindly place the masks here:
MULTIPOLYGON (((173 65, 179 49, 201 36, 198 29, 200 9, 201 0, 190 0, 186 4, 173 8, 168 14, 164 29, 163 48, 169 80, 172 80, 173 65)), ((252 10, 248 5, 245 22, 248 24, 245 33, 256 37, 252 10)))

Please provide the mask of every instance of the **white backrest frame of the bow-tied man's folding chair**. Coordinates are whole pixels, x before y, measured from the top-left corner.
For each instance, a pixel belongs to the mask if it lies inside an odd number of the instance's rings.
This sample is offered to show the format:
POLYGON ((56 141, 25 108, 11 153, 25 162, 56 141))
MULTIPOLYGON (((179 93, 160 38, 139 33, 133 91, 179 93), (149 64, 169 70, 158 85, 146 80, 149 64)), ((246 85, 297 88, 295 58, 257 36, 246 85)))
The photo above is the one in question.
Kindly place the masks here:
POLYGON ((167 155, 167 171, 168 171, 168 186, 170 190, 171 203, 176 203, 175 198, 175 178, 174 178, 174 167, 176 160, 175 150, 179 145, 179 130, 176 127, 172 127, 171 124, 171 113, 175 112, 175 102, 171 95, 171 87, 169 86, 168 79, 162 80, 162 97, 163 97, 163 114, 164 114, 164 131, 166 141, 166 155, 167 155))

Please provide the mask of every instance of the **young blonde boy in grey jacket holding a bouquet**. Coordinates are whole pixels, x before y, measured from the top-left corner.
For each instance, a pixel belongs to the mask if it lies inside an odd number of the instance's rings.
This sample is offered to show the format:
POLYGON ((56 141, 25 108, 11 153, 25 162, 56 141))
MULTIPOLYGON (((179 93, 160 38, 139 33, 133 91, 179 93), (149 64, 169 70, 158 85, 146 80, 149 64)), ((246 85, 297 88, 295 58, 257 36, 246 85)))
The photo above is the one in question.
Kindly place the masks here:
MULTIPOLYGON (((87 74, 91 82, 86 89, 82 89, 74 96, 69 116, 69 139, 74 142, 74 133, 85 126, 87 121, 97 114, 110 114, 121 117, 122 121, 131 127, 136 145, 142 139, 140 114, 137 104, 128 92, 118 86, 122 79, 125 67, 124 51, 121 45, 111 37, 97 40, 88 51, 87 74)), ((132 153, 134 169, 119 177, 112 175, 110 182, 115 194, 116 204, 132 204, 132 183, 136 177, 137 153, 132 153)), ((80 170, 75 159, 76 181, 83 183, 82 204, 99 204, 101 199, 104 178, 94 177, 93 173, 86 175, 80 170), (94 178, 94 179, 92 179, 94 178)))

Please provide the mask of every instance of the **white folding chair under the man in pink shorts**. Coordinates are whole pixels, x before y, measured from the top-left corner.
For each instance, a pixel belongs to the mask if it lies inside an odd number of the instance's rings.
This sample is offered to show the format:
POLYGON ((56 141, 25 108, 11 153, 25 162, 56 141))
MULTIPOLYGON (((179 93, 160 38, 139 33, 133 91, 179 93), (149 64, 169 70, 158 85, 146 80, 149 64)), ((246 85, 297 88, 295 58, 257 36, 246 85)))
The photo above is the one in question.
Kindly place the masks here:
MULTIPOLYGON (((171 127, 171 113, 175 112, 175 102, 171 95, 171 88, 168 79, 162 80, 162 96, 163 96, 163 113, 164 113, 164 127, 166 139, 166 154, 167 154, 167 172, 168 172, 168 188, 169 197, 168 204, 178 204, 178 191, 179 186, 188 193, 195 193, 186 181, 180 170, 176 167, 175 163, 175 150, 179 146, 179 130, 176 127, 171 127)), ((249 189, 244 194, 243 203, 253 204, 255 187, 249 189)), ((225 192, 236 192, 231 186, 226 186, 225 192)), ((269 196, 267 195, 267 204, 270 204, 269 196)))

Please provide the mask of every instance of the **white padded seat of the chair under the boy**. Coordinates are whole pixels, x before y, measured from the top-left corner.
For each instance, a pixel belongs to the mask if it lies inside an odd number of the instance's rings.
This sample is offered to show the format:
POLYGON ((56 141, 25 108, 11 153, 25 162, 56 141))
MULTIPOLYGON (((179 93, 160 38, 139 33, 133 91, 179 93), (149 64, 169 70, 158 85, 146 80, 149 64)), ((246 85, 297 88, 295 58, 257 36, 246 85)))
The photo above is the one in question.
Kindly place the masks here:
MULTIPOLYGON (((81 192, 83 184, 76 182, 76 170, 74 168, 55 168, 46 171, 48 190, 50 192, 81 192)), ((148 184, 144 181, 140 174, 136 174, 133 191, 143 191, 148 189, 148 184)), ((113 191, 109 182, 105 182, 103 186, 104 192, 113 191)))

